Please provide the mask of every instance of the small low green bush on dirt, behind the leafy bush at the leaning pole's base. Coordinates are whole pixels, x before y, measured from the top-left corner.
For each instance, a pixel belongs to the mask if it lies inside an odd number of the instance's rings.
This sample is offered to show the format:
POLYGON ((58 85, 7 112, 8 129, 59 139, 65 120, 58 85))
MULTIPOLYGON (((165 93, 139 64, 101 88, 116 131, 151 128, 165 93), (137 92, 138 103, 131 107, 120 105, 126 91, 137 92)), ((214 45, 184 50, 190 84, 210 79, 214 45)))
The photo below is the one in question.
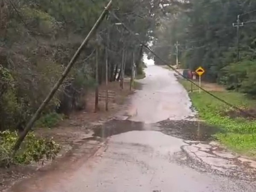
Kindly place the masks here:
POLYGON ((36 127, 47 127, 51 128, 57 125, 58 122, 63 120, 64 115, 59 114, 56 112, 48 113, 44 116, 42 116, 38 121, 36 122, 36 127))

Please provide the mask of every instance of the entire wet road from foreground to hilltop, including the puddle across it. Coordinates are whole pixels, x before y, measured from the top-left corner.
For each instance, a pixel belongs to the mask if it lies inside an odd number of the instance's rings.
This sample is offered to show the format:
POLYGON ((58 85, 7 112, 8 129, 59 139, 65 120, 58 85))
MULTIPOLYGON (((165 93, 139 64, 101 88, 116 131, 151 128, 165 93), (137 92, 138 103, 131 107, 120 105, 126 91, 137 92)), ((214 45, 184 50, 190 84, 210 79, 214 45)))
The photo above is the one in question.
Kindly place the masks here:
POLYGON ((95 127, 95 140, 88 142, 100 146, 93 155, 85 158, 80 149, 74 154, 79 160, 59 163, 8 191, 255 192, 256 163, 213 141, 220 130, 196 121, 174 72, 150 66, 146 75, 125 115, 95 127))

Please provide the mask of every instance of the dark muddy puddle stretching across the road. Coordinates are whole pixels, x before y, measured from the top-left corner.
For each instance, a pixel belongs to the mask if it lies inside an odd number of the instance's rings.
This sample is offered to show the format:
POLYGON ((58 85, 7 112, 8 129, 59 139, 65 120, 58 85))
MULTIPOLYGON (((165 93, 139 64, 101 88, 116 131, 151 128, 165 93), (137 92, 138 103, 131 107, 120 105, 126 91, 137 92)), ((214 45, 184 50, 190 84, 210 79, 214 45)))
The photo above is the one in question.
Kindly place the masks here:
POLYGON ((160 131, 163 134, 174 136, 183 140, 209 141, 212 135, 220 131, 218 128, 206 125, 199 121, 164 120, 157 123, 145 124, 130 120, 110 120, 94 128, 95 137, 110 137, 128 131, 160 131))

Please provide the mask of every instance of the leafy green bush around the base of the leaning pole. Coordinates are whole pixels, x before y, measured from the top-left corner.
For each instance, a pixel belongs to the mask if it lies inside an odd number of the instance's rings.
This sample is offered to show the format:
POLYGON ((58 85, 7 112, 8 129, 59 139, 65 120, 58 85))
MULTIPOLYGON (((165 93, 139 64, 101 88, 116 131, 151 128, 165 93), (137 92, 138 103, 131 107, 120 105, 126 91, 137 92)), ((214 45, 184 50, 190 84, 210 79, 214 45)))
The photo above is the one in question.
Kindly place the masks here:
POLYGON ((42 159, 53 159, 60 150, 60 146, 52 139, 37 138, 29 133, 15 157, 12 157, 12 147, 18 138, 16 131, 0 132, 0 166, 11 164, 29 164, 42 159))

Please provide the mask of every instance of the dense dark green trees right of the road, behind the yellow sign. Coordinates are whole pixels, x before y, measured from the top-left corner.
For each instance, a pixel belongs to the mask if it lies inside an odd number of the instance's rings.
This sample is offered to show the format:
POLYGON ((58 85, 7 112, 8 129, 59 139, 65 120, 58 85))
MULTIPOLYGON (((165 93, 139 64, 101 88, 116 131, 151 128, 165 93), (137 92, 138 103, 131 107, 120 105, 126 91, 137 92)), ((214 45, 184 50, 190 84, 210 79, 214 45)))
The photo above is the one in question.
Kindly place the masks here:
POLYGON ((183 67, 195 70, 203 66, 205 79, 256 96, 256 23, 247 23, 256 18, 256 12, 251 12, 255 9, 254 0, 186 0, 161 20, 154 50, 175 64, 174 45, 178 41, 183 67), (245 22, 239 32, 239 62, 237 31, 233 27, 237 15, 245 22))

